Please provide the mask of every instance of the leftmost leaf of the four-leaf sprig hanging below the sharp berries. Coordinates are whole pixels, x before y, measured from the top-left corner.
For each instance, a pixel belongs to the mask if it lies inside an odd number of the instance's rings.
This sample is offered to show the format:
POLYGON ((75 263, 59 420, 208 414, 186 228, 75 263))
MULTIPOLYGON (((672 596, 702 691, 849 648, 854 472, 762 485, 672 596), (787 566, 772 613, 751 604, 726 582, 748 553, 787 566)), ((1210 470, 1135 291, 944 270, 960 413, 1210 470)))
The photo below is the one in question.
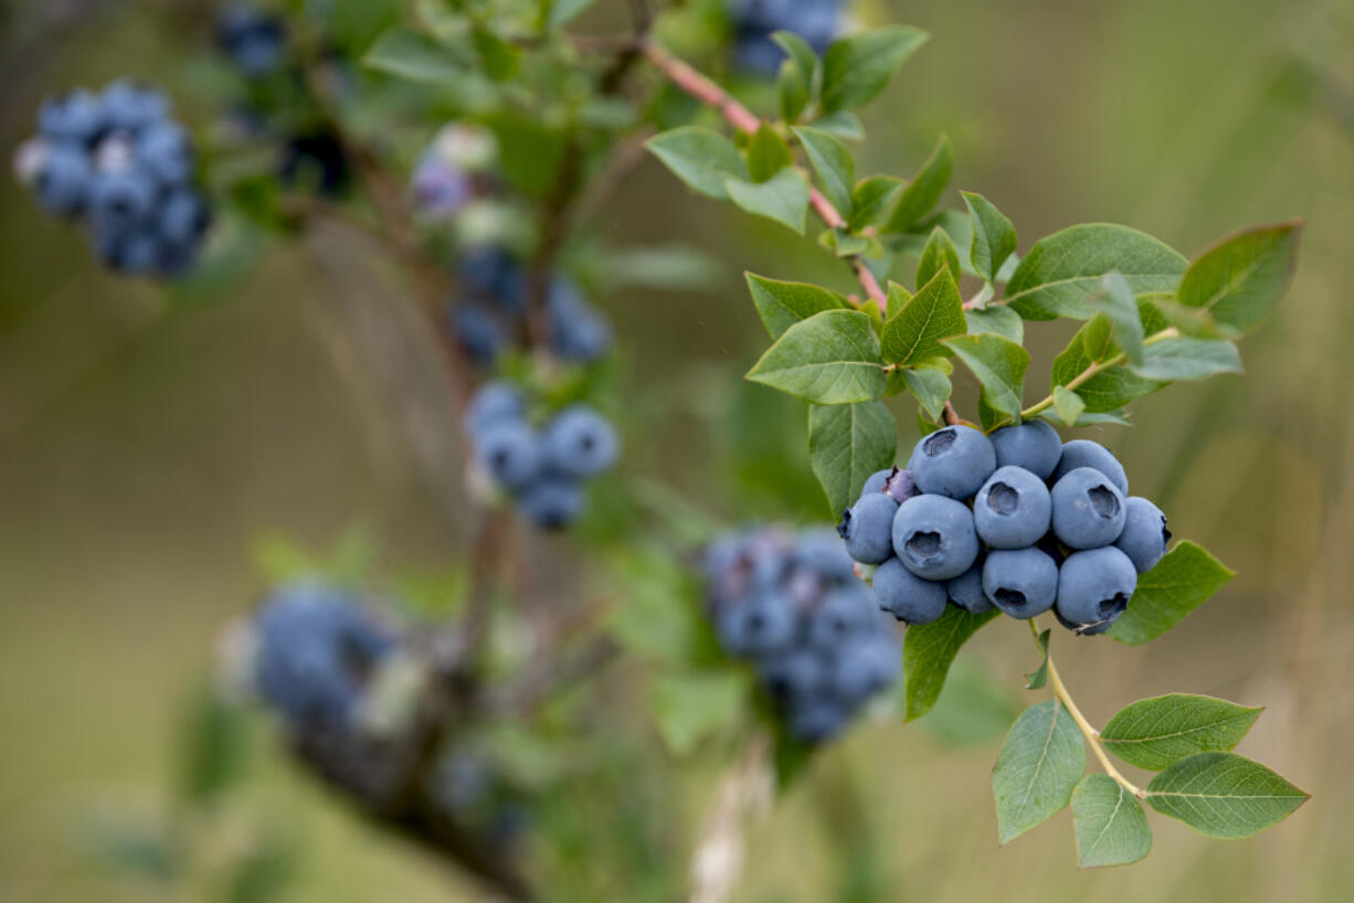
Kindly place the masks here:
POLYGON ((1086 743, 1057 700, 1026 708, 1006 734, 992 768, 997 826, 1007 843, 1072 800, 1086 772, 1086 743))

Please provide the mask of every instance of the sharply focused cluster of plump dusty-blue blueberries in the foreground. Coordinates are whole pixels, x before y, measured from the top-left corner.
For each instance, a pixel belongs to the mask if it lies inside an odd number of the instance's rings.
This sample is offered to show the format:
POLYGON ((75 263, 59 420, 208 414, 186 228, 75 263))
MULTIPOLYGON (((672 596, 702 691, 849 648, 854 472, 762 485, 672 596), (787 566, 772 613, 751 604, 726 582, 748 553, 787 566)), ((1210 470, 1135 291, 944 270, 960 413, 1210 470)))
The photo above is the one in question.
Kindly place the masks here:
POLYGON ((1108 631, 1170 542, 1104 445, 1064 444, 1044 421, 923 436, 907 470, 867 481, 838 532, 902 621, 933 621, 948 600, 1021 619, 1052 608, 1078 634, 1108 631))

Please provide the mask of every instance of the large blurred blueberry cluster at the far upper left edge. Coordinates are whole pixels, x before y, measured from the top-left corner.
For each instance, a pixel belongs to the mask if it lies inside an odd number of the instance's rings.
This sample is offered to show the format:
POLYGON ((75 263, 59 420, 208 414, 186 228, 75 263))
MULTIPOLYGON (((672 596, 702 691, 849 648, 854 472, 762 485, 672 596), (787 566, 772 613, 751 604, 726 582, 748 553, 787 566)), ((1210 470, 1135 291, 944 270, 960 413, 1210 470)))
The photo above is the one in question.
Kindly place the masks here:
POLYGON ((84 225, 111 269, 177 276, 198 257, 207 202, 188 133, 156 88, 119 80, 46 100, 15 168, 45 210, 84 225))

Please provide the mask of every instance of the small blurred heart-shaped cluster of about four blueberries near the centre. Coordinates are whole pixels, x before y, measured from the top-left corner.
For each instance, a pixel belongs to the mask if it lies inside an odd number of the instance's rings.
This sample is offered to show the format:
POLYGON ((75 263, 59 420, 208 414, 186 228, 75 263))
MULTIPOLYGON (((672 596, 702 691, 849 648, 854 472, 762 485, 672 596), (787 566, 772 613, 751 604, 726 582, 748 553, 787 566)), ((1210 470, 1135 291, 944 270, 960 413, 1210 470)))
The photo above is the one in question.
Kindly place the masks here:
POLYGON ((584 481, 609 470, 620 451, 616 431, 586 405, 570 405, 538 429, 521 391, 504 382, 475 393, 466 435, 475 466, 543 529, 578 520, 584 481))

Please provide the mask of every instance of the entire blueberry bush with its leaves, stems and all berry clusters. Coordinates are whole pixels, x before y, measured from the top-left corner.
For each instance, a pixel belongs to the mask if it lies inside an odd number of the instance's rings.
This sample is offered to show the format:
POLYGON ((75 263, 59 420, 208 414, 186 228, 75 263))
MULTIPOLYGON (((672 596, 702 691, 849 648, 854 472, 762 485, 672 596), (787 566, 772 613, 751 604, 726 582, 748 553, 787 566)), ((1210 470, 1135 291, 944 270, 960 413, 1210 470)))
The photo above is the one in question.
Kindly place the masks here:
MULTIPOLYGON (((685 881, 693 899, 726 899, 762 757, 787 785, 862 712, 940 715, 956 655, 1002 615, 1026 621, 1025 684, 1051 695, 1018 718, 984 709, 1009 726, 992 770, 1002 843, 1070 806, 1080 865, 1122 865, 1151 847, 1147 808, 1221 838, 1294 811, 1303 791, 1232 751, 1259 709, 1177 693, 1095 728, 1039 619, 1137 646, 1232 577, 1198 544, 1170 546, 1166 514, 1129 494, 1114 456, 1059 429, 1127 425, 1141 397, 1239 372, 1239 340, 1290 282, 1300 225, 1193 259, 1112 223, 1022 244, 992 200, 951 188, 944 135, 914 172, 857 172, 857 111, 923 31, 849 31, 838 0, 630 0, 616 4, 628 27, 597 32, 594 5, 232 1, 202 35, 217 61, 195 84, 218 115, 196 141, 164 92, 126 81, 39 112, 16 171, 112 269, 191 296, 232 286, 274 244, 338 229, 399 271, 445 363, 468 462, 463 560, 391 588, 362 542, 321 559, 263 544, 275 586, 223 643, 225 682, 363 814, 512 899, 600 899, 601 876, 626 899, 672 899, 685 881), (728 531, 609 472, 624 444, 603 412, 620 366, 588 298, 689 287, 708 269, 689 250, 603 245, 593 218, 646 158, 850 273, 850 292, 746 275, 770 337, 747 379, 808 402, 839 537, 826 524, 728 531), (1032 368, 1025 322, 1060 318, 1075 334, 1032 368), (956 366, 979 387, 968 405, 952 397, 956 366), (1044 372, 1047 393, 1029 391, 1044 372), (895 412, 911 402, 922 436, 903 460, 895 412), (650 529, 589 525, 593 490, 647 512, 627 523, 650 529), (529 529, 575 527, 596 540, 596 582, 623 598, 532 604, 529 529), (746 753, 689 876, 662 816, 677 777, 617 739, 634 734, 624 707, 580 703, 617 653, 649 669, 670 754, 720 738, 746 753), (898 708, 880 704, 890 688, 898 708), (544 852, 523 854, 524 823, 544 852)), ((232 769, 213 757, 226 716, 206 712, 194 761, 214 796, 232 769)), ((830 811, 865 856, 841 801, 830 811)))

